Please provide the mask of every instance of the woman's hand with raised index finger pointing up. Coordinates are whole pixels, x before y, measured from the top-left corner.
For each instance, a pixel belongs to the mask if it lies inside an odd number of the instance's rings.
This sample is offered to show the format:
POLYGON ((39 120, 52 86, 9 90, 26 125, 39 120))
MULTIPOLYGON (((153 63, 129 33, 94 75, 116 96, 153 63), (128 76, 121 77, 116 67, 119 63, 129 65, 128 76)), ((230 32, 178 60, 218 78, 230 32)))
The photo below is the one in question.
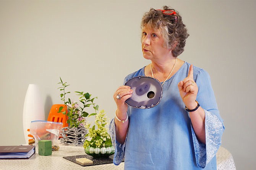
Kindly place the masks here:
POLYGON ((188 109, 194 109, 197 106, 196 96, 198 93, 198 86, 193 79, 193 65, 190 65, 188 76, 178 83, 180 97, 188 109))

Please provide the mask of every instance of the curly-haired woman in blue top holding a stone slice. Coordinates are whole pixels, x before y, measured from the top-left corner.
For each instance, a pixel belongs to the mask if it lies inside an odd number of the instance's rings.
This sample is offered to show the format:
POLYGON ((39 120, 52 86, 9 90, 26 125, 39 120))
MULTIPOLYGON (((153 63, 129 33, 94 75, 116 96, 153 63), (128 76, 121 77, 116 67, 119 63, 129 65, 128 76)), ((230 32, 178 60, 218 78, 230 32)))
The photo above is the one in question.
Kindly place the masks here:
POLYGON ((216 152, 224 130, 209 75, 177 57, 189 36, 179 13, 167 6, 151 9, 141 22, 143 57, 151 64, 126 76, 149 76, 163 87, 153 108, 139 109, 125 101, 133 95, 120 86, 110 123, 116 147, 113 163, 125 156, 125 169, 216 169, 216 152))

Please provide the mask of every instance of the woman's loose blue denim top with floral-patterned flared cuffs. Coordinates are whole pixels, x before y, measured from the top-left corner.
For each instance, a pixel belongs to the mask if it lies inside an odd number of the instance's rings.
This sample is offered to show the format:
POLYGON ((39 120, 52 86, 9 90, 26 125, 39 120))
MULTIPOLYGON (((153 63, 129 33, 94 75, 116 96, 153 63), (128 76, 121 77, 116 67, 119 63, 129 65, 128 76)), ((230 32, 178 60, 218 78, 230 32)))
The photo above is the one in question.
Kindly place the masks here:
MULTIPOLYGON (((185 62, 163 85, 160 103, 149 109, 128 107, 129 130, 123 145, 115 138, 115 122, 110 123, 110 136, 115 150, 113 163, 125 157, 125 170, 216 170, 216 153, 224 131, 211 80, 202 68, 193 66, 198 85, 196 100, 205 111, 206 145, 200 143, 189 113, 181 100, 177 84, 189 71, 185 62)), ((144 68, 126 76, 145 76, 144 68)))

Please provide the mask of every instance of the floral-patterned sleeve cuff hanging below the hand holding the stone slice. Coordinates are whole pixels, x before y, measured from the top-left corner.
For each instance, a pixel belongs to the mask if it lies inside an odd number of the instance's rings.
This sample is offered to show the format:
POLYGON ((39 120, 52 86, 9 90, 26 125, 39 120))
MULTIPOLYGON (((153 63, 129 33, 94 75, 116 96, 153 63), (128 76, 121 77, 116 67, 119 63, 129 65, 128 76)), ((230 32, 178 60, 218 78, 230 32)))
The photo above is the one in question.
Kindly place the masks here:
POLYGON ((125 140, 125 143, 123 145, 120 144, 117 141, 117 139, 115 137, 115 121, 114 121, 114 119, 112 119, 112 121, 110 122, 110 125, 109 125, 109 135, 110 135, 111 140, 112 140, 112 145, 115 148, 113 164, 114 165, 119 165, 119 164, 121 164, 121 162, 123 160, 123 157, 125 156, 126 140, 125 140))

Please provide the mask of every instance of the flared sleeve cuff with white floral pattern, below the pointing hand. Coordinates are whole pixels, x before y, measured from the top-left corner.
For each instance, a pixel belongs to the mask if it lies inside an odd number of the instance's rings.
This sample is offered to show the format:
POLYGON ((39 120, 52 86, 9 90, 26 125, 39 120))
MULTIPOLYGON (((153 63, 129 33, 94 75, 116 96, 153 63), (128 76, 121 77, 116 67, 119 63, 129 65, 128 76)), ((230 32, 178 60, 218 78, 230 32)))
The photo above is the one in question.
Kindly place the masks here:
POLYGON ((206 165, 217 153, 221 144, 221 136, 224 130, 222 122, 216 115, 211 114, 211 112, 207 110, 204 110, 204 112, 206 145, 198 141, 191 124, 196 164, 200 168, 206 167, 206 165))

